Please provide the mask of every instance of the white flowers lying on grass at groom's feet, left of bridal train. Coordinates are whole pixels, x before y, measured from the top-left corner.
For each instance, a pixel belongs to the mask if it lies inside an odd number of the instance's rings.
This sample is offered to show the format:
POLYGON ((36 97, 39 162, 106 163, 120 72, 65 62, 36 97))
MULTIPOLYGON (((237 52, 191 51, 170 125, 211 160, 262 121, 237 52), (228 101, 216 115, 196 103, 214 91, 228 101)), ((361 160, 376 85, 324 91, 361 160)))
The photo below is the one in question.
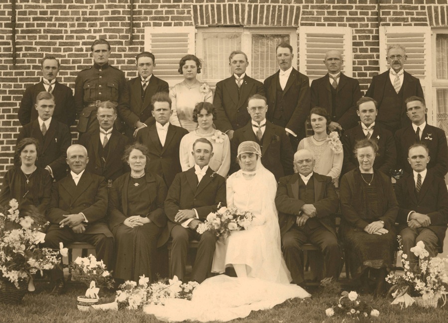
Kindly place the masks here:
POLYGON ((163 305, 164 300, 170 298, 191 300, 193 290, 199 285, 197 282, 182 284, 177 276, 152 284, 148 282, 149 278, 143 275, 138 283, 126 281, 121 284, 115 298, 118 309, 141 310, 144 305, 163 305))

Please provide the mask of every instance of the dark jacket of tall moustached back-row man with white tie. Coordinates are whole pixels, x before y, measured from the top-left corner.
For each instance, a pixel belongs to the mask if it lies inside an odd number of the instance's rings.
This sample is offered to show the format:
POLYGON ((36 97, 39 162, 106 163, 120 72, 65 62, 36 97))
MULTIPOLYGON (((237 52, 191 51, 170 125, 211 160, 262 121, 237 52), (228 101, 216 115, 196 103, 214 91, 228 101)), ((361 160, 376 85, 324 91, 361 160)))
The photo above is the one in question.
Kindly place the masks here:
MULTIPOLYGON (((266 118, 272 121, 275 103, 277 102, 277 82, 280 70, 264 80, 264 88, 268 100, 266 118)), ((283 90, 283 116, 289 120, 288 128, 298 136, 298 141, 305 138, 305 121, 310 112, 310 80, 307 76, 293 68, 283 90)))

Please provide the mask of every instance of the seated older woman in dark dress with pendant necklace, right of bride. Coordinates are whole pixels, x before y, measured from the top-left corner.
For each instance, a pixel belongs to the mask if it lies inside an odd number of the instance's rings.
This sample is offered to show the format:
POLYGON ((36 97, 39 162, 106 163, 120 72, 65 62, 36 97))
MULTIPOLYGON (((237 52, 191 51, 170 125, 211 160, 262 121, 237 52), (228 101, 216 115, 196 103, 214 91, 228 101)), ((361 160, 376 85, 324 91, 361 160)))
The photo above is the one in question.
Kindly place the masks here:
POLYGON ((360 279, 367 292, 369 274, 376 275, 376 296, 384 292, 384 279, 394 261, 398 212, 389 177, 373 170, 377 151, 376 142, 369 139, 360 140, 354 147, 359 168, 346 173, 340 182, 339 230, 352 278, 360 279))

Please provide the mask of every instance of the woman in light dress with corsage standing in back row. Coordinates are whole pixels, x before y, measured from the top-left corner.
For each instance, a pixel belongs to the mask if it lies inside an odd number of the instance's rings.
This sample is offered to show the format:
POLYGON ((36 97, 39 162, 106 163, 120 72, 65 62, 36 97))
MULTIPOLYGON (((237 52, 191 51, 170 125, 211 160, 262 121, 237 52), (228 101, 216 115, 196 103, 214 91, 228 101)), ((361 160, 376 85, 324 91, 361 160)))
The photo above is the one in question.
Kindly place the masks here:
POLYGON ((213 103, 213 93, 205 82, 196 76, 201 73, 201 61, 195 55, 185 55, 179 62, 179 73, 184 81, 170 89, 172 101, 170 122, 174 125, 194 131, 198 122, 193 120, 193 110, 199 102, 213 103))

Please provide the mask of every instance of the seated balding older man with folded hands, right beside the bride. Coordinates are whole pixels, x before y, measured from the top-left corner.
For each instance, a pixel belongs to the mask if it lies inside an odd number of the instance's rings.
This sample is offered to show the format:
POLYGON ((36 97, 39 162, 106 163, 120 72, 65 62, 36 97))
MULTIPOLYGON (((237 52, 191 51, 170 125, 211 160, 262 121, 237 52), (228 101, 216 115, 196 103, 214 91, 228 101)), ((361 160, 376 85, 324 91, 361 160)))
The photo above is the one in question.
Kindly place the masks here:
POLYGON ((325 277, 339 277, 342 254, 330 218, 338 207, 336 189, 331 177, 313 172, 314 165, 311 151, 297 151, 294 166, 298 173, 280 178, 275 197, 283 255, 297 285, 304 284, 302 245, 307 242, 322 250, 325 277))

